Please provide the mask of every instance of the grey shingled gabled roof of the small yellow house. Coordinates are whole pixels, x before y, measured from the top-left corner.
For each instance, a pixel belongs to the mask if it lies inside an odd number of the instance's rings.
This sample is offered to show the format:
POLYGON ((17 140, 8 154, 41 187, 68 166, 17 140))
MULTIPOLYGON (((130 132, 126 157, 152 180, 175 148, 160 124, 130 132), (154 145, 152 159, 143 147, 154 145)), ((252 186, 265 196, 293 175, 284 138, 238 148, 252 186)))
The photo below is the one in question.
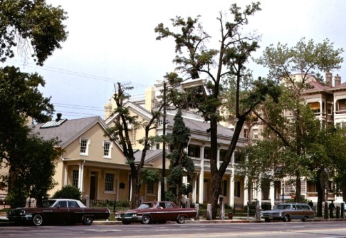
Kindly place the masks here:
POLYGON ((85 131, 93 127, 96 123, 100 124, 103 129, 107 128, 107 125, 104 123, 100 116, 93 116, 89 118, 80 118, 73 120, 65 120, 60 125, 54 124, 52 127, 42 127, 43 125, 48 125, 46 123, 39 123, 33 125, 33 133, 38 133, 40 137, 45 140, 51 138, 58 138, 60 140, 60 147, 64 149, 69 145, 73 140, 84 134, 85 131))

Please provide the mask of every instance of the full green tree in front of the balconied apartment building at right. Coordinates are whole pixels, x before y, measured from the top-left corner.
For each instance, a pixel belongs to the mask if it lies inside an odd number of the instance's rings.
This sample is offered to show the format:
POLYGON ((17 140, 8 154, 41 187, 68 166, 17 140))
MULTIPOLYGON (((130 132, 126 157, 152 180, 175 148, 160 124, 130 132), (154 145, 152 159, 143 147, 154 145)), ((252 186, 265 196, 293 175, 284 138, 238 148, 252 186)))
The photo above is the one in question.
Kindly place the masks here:
MULTIPOLYGON (((311 89, 311 81, 322 82, 321 73, 340 68, 343 62, 341 53, 343 49, 334 49, 328 39, 315 44, 312 39, 306 42, 302 38, 291 48, 280 43, 276 47, 271 45, 256 60, 268 68, 268 77, 282 82, 282 93, 278 103, 264 102, 261 114, 265 116, 256 114, 267 125, 264 136, 269 140, 265 143, 276 150, 266 153, 262 143, 255 145, 257 149, 251 154, 258 156, 253 156, 251 163, 270 166, 273 171, 280 167, 280 176, 293 178, 295 201, 300 201, 301 176, 315 179, 320 199, 323 191, 320 187, 321 173, 334 170, 333 153, 329 154, 330 144, 327 143, 328 133, 322 129, 309 106, 302 103, 302 96, 304 91, 311 89), (290 116, 288 113, 284 115, 283 111, 290 112, 290 116)), ((259 173, 268 172, 265 167, 259 168, 262 169, 259 173)))

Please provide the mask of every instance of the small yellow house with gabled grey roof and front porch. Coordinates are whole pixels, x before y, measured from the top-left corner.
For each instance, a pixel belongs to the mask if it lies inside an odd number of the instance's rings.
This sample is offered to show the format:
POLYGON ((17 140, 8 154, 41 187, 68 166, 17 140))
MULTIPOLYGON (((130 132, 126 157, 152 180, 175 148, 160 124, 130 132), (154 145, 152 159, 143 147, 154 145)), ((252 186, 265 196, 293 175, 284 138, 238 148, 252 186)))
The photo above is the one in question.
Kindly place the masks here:
POLYGON ((105 136, 104 121, 99 116, 73 120, 62 119, 60 113, 57 116, 56 120, 33 126, 33 132, 42 138, 60 140, 56 149, 62 150, 62 155, 54 176, 58 185, 49 194, 73 185, 83 198, 128 200, 128 166, 119 145, 105 136))

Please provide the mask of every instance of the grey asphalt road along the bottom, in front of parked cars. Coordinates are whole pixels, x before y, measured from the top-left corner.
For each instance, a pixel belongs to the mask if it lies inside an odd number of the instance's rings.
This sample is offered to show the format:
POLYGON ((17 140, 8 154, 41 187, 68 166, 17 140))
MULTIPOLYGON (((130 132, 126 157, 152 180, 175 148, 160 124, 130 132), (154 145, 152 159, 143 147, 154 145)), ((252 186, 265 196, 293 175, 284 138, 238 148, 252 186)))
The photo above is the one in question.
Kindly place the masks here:
POLYGON ((346 237, 345 221, 1 226, 0 237, 346 237))

